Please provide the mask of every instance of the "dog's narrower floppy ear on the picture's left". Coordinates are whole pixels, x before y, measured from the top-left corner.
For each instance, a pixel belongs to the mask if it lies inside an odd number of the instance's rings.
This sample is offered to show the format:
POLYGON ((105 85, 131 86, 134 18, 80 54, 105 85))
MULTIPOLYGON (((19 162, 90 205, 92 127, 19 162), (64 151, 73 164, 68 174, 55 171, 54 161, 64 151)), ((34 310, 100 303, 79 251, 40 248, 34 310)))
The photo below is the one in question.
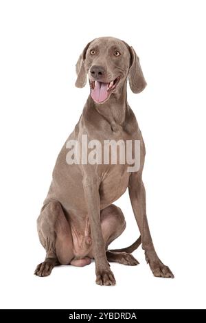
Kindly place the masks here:
POLYGON ((85 87, 87 83, 87 71, 85 68, 84 60, 85 60, 89 45, 90 43, 88 43, 87 46, 84 48, 82 54, 80 55, 76 63, 76 74, 77 74, 77 79, 75 82, 76 87, 80 87, 80 88, 85 87))

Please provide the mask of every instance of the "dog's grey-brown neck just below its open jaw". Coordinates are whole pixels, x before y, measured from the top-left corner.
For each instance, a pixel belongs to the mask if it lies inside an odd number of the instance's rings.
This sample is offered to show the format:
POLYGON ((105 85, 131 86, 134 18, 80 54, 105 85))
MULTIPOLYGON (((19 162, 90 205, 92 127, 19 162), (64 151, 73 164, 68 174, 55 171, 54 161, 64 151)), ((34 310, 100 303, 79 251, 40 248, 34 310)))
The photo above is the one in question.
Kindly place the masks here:
POLYGON ((110 124, 111 128, 122 126, 126 118, 126 109, 128 109, 126 96, 126 82, 119 87, 115 93, 111 93, 110 98, 101 104, 93 101, 91 96, 88 98, 89 106, 98 111, 110 124))

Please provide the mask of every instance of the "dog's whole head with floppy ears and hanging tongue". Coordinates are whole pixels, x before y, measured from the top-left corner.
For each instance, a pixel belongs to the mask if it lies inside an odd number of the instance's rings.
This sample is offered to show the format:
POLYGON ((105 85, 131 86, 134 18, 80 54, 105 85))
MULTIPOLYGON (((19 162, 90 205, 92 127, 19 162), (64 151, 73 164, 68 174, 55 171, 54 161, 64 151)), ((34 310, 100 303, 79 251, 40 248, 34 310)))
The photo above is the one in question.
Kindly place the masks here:
POLYGON ((127 76, 134 93, 146 87, 137 54, 117 38, 101 37, 87 44, 76 64, 76 72, 76 87, 84 87, 88 75, 91 97, 98 104, 121 91, 127 76))

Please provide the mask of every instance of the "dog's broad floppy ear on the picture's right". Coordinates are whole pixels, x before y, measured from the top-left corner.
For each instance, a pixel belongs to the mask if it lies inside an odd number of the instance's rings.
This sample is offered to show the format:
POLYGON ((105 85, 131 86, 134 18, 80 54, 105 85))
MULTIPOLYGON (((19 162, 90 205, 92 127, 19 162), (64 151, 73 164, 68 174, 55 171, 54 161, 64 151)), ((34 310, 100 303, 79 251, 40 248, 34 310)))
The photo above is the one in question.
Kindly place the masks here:
POLYGON ((133 93, 139 93, 144 90, 147 83, 144 79, 144 75, 141 71, 141 66, 139 64, 139 57, 135 53, 133 47, 129 47, 130 51, 130 69, 128 71, 128 80, 130 84, 130 89, 133 93))

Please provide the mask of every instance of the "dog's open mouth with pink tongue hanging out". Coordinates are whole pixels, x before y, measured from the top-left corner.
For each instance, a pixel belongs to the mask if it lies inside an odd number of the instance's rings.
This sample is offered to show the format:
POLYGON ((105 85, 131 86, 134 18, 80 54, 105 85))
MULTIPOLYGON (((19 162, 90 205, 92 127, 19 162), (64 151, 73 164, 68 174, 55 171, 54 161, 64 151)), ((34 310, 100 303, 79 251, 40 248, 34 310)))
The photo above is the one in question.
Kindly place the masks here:
POLYGON ((117 87, 119 80, 120 80, 119 76, 115 78, 115 80, 108 83, 100 82, 98 80, 95 80, 95 81, 89 80, 90 89, 91 89, 91 98, 93 98, 93 100, 97 103, 105 102, 117 87))

